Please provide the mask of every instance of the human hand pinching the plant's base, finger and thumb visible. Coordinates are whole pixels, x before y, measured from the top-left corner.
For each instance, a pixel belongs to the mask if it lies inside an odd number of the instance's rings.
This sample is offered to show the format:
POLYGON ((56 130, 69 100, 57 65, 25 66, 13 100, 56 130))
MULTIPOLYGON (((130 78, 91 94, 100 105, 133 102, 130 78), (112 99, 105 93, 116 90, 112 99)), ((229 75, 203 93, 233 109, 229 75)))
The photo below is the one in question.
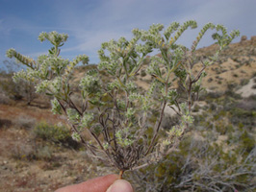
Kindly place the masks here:
POLYGON ((126 180, 118 180, 117 175, 107 175, 79 184, 65 186, 55 192, 133 192, 132 185, 126 180))

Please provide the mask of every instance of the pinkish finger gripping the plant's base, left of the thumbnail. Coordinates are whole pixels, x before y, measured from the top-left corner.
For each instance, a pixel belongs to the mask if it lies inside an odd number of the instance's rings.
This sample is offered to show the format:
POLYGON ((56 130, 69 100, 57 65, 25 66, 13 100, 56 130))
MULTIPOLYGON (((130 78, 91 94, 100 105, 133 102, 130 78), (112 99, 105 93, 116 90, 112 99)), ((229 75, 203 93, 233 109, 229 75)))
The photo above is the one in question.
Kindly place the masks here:
POLYGON ((65 186, 55 192, 105 192, 117 179, 117 175, 107 175, 79 184, 65 186))

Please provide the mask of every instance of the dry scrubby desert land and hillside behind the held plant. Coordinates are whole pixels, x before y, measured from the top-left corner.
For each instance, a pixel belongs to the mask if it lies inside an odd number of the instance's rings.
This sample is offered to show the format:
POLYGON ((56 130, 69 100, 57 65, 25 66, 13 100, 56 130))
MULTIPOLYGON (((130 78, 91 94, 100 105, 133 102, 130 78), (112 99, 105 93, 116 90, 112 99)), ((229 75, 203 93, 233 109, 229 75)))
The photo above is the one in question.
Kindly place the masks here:
MULTIPOLYGON (((215 48, 197 54, 211 55, 215 48)), ((82 69, 75 72, 74 84, 82 69)), ((231 44, 206 72, 208 92, 193 108, 196 133, 187 135, 160 166, 127 174, 138 191, 255 189, 256 36, 231 44)), ((137 83, 146 89, 150 79, 141 70, 137 83)), ((49 101, 36 95, 28 103, 22 91, 26 93, 11 76, 0 75, 0 191, 53 191, 112 172, 92 163, 70 139, 64 119, 52 115, 49 101)), ((176 122, 166 115, 163 128, 176 122)))

